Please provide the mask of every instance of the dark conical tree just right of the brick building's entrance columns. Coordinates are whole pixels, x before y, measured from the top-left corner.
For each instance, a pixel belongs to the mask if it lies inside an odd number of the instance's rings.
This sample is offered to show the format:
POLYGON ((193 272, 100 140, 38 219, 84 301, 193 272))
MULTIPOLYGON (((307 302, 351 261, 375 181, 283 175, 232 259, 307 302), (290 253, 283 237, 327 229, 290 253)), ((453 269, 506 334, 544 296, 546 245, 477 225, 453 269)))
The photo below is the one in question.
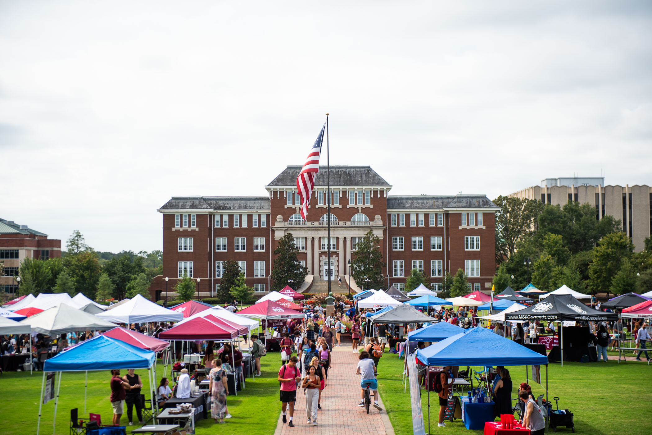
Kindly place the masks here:
POLYGON ((383 277, 383 254, 380 252, 380 237, 374 235, 372 230, 364 234, 358 240, 358 245, 353 258, 351 258, 351 275, 355 282, 360 285, 365 279, 370 280, 365 288, 382 288, 385 284, 383 277))

